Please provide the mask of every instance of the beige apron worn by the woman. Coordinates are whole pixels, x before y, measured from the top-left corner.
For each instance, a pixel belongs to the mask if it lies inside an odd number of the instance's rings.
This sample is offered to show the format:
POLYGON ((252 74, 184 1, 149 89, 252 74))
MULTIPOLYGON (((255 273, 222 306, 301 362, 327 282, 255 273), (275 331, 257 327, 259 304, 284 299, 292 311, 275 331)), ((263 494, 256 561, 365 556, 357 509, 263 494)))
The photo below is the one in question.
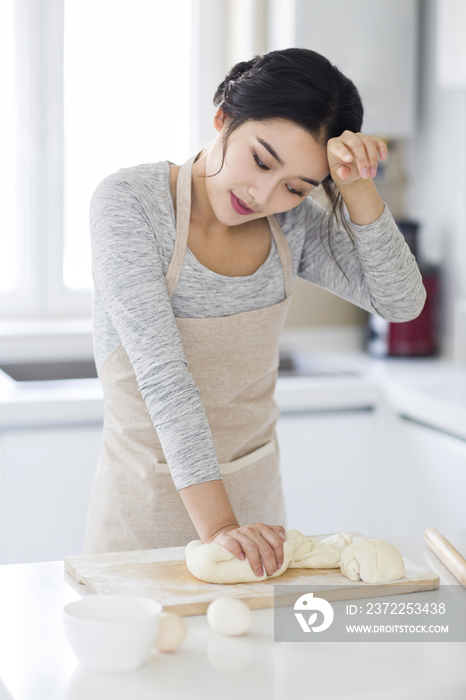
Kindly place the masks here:
MULTIPOLYGON (((193 162, 194 157, 178 174, 175 246, 165 275, 170 298, 188 243, 193 162)), ((176 323, 239 524, 285 527, 275 435, 279 411, 273 394, 279 336, 291 299, 292 260, 275 217, 268 221, 282 263, 285 300, 231 316, 177 318, 176 323)), ((103 445, 85 553, 176 547, 198 539, 121 343, 99 377, 104 390, 103 445)))

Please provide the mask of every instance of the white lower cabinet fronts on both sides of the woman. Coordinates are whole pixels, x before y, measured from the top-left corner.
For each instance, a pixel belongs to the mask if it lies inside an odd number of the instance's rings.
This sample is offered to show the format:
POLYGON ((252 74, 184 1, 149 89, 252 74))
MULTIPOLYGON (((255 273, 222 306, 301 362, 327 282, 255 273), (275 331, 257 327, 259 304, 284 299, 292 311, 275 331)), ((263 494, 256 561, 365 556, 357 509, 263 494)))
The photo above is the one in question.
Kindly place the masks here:
MULTIPOLYGON (((465 440, 400 417, 382 393, 372 409, 331 403, 361 405, 363 384, 319 386, 293 394, 299 410, 287 398, 277 424, 287 528, 387 539, 464 528, 465 440)), ((97 422, 0 430, 0 564, 82 551, 101 440, 97 422)))

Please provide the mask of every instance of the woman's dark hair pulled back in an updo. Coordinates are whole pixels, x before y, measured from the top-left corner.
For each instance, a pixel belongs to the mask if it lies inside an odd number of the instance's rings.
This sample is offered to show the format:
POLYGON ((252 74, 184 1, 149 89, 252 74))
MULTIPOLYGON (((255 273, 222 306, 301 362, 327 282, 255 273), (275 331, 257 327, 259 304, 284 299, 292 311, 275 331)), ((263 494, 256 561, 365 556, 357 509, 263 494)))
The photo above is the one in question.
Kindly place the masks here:
MULTIPOLYGON (((237 63, 219 85, 214 105, 226 116, 222 167, 228 139, 247 121, 287 119, 321 144, 343 131, 361 130, 363 106, 355 85, 328 59, 310 49, 270 51, 237 63)), ((328 175, 322 186, 334 216, 343 200, 328 175)), ((348 225, 342 217, 347 232, 348 225)), ((329 227, 329 245, 330 227, 329 227)))

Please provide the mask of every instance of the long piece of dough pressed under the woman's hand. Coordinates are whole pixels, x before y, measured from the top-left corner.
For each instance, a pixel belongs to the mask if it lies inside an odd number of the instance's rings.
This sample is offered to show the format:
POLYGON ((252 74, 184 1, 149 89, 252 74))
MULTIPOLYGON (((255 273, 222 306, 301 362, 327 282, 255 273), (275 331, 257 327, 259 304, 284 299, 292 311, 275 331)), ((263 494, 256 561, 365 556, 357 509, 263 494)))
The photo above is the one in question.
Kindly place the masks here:
POLYGON ((238 559, 223 545, 193 540, 186 546, 186 565, 193 576, 209 583, 249 583, 281 576, 287 569, 337 569, 343 550, 352 542, 341 533, 319 541, 299 530, 288 530, 283 565, 272 576, 256 576, 247 559, 238 559))

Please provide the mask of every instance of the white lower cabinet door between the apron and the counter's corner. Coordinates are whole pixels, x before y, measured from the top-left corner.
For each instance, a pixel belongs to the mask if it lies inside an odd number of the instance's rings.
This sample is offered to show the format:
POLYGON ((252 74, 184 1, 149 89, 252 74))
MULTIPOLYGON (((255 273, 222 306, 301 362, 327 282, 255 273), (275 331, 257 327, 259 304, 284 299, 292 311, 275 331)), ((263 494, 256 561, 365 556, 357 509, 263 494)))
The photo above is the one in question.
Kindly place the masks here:
POLYGON ((282 413, 277 424, 287 528, 371 535, 377 412, 282 413))

